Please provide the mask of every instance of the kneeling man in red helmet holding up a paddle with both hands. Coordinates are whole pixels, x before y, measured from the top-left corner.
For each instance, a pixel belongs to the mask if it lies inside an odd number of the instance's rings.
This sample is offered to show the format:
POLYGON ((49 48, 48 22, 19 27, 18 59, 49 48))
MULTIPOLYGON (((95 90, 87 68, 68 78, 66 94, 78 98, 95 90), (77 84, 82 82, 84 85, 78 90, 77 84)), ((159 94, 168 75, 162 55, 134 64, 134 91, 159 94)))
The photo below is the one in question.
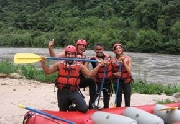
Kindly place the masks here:
MULTIPOLYGON (((76 58, 76 47, 68 45, 65 48, 66 58, 76 58)), ((42 57, 41 61, 42 69, 46 75, 58 72, 57 78, 57 100, 60 111, 68 111, 69 101, 76 104, 77 110, 80 112, 87 112, 88 107, 83 96, 78 91, 80 84, 80 73, 84 76, 94 76, 98 72, 100 66, 103 65, 103 61, 99 62, 97 67, 92 71, 89 71, 82 63, 73 60, 62 60, 53 64, 51 67, 46 66, 45 57, 42 57)))

